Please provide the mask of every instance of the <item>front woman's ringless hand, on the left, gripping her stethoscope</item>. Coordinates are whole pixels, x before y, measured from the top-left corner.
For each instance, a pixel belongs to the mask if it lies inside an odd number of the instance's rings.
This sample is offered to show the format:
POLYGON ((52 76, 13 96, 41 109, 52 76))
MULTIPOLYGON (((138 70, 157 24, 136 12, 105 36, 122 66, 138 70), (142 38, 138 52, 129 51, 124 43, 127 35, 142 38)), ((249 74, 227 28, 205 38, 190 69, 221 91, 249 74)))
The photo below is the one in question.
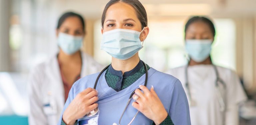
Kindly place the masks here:
POLYGON ((62 120, 66 125, 74 125, 76 120, 84 117, 87 113, 98 107, 98 92, 87 88, 77 94, 63 113, 62 120))

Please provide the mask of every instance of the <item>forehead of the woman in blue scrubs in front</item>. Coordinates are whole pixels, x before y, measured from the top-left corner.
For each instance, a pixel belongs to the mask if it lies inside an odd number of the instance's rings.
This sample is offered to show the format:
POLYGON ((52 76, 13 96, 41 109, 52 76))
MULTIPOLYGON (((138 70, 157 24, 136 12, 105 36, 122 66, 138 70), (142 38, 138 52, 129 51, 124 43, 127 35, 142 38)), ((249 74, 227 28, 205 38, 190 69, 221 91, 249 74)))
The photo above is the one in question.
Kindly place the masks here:
POLYGON ((118 2, 111 5, 106 12, 106 19, 110 18, 136 18, 136 12, 133 6, 124 3, 118 2))

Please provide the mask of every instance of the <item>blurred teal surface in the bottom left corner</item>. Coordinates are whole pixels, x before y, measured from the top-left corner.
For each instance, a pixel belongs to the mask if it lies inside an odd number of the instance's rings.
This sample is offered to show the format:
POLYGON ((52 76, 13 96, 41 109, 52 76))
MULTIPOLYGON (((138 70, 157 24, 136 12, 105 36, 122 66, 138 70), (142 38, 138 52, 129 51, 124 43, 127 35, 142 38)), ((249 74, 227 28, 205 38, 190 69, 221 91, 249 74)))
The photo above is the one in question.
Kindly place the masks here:
POLYGON ((3 115, 0 116, 1 125, 28 125, 28 116, 3 115))

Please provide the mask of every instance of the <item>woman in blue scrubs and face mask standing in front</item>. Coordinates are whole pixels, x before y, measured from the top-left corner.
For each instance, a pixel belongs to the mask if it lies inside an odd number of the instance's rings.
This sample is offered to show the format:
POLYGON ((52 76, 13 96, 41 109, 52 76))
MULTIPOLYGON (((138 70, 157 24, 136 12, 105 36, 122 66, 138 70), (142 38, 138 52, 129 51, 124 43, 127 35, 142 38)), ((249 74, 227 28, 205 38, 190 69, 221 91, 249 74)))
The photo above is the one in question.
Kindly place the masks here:
POLYGON ((139 58, 149 33, 143 5, 138 0, 110 0, 103 11, 101 32, 101 49, 112 56, 111 65, 102 74, 74 83, 59 125, 190 125, 180 81, 139 58))

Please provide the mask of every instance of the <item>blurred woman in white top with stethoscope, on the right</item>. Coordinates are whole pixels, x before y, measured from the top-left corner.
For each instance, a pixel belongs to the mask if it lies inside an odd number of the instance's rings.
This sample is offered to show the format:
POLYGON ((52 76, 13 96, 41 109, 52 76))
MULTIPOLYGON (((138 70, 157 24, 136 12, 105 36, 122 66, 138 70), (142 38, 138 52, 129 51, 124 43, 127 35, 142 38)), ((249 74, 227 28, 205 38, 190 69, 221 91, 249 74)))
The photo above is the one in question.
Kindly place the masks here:
POLYGON ((205 17, 192 17, 185 26, 188 65, 170 69, 189 100, 192 125, 238 125, 239 103, 246 100, 235 72, 212 63, 215 28, 205 17))

